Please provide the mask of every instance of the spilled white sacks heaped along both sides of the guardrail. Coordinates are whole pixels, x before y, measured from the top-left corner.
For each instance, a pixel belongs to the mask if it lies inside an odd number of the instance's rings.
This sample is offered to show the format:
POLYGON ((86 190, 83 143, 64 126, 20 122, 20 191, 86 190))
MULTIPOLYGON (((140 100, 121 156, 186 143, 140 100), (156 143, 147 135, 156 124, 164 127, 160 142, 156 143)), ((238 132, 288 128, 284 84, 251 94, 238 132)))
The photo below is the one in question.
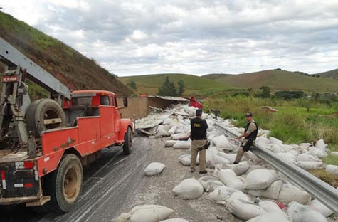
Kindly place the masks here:
MULTIPOLYGON (((195 117, 195 111, 194 107, 177 105, 169 110, 172 115, 167 115, 157 129, 154 129, 154 134, 158 137, 170 137, 165 141, 165 147, 190 149, 191 140, 183 139, 190 135, 190 119, 195 117)), ((206 150, 208 176, 181 181, 172 190, 177 198, 198 199, 206 192, 211 200, 226 206, 236 217, 250 222, 327 221, 326 217, 332 215, 329 208, 315 199, 312 200, 306 191, 282 179, 278 171, 255 165, 257 157, 252 152, 246 152, 240 164, 233 164, 238 145, 234 145, 232 139, 219 132, 214 127, 215 122, 238 135, 244 129, 234 127, 231 120, 215 120, 214 115, 203 114, 202 118, 208 123, 207 137, 211 141, 211 146, 206 150), (295 213, 297 211, 301 213, 295 213)), ((322 158, 329 154, 323 139, 314 146, 310 143, 284 144, 279 139, 269 137, 268 130, 259 129, 255 144, 269 149, 278 157, 302 169, 326 168, 332 174, 338 174, 338 166, 325 166, 322 162, 322 158)), ((190 166, 190 161, 189 154, 179 157, 179 162, 184 166, 190 166)))

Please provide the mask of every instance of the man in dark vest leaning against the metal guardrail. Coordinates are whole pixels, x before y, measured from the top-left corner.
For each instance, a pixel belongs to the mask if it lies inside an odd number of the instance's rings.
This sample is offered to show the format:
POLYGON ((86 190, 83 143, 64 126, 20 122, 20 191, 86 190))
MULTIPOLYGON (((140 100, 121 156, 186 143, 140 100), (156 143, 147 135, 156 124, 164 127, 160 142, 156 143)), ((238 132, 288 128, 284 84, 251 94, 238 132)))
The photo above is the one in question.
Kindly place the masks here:
POLYGON ((244 133, 236 137, 236 139, 241 139, 244 137, 241 147, 239 147, 236 160, 233 164, 238 164, 241 162, 244 152, 248 152, 250 147, 253 145, 258 133, 257 123, 253 120, 253 114, 251 112, 245 113, 245 119, 248 124, 245 127, 244 133))

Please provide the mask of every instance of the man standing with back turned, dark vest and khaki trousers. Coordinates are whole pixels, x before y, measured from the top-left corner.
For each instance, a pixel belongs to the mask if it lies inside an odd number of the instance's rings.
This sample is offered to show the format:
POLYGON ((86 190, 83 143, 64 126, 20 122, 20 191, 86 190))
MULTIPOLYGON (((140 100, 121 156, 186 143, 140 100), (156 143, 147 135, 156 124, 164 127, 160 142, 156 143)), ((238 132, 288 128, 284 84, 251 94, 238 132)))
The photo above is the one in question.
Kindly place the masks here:
POLYGON ((201 119, 202 110, 196 110, 196 118, 190 120, 191 125, 191 173, 195 171, 196 158, 199 153, 199 173, 206 174, 206 149, 204 146, 207 144, 206 129, 208 124, 206 120, 201 119))

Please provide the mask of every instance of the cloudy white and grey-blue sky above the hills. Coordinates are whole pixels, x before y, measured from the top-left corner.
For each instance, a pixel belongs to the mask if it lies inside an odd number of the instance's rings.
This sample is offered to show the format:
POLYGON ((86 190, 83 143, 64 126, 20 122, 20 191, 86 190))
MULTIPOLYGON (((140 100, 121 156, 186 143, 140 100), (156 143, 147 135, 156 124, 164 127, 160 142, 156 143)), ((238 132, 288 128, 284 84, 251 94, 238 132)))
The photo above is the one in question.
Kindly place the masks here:
POLYGON ((0 0, 119 75, 338 68, 337 0, 0 0))

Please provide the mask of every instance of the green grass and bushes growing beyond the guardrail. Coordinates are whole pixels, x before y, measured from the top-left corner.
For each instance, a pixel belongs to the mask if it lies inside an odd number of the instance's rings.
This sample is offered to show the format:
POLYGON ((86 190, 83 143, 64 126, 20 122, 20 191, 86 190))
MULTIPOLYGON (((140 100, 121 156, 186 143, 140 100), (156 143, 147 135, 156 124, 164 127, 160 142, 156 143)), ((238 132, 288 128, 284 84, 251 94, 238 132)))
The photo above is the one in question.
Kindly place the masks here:
MULTIPOLYGON (((323 138, 324 142, 329 144, 328 148, 331 151, 338 151, 337 95, 315 93, 311 97, 302 96, 286 100, 275 96, 276 93, 268 97, 262 97, 261 93, 263 92, 255 92, 252 95, 226 93, 223 97, 217 95, 216 98, 208 98, 203 101, 203 104, 204 107, 208 106, 211 109, 221 109, 221 117, 235 120, 237 127, 243 127, 246 124, 243 113, 253 112, 259 127, 270 130, 271 137, 281 139, 285 144, 315 142, 323 138), (278 112, 260 108, 263 106, 272 107, 278 112)), ((279 94, 285 95, 285 92, 279 94)), ((295 95, 295 93, 290 93, 290 95, 295 95)), ((338 165, 338 157, 330 154, 323 159, 323 162, 338 165)), ((338 186, 338 176, 324 170, 313 171, 313 174, 338 186)))

